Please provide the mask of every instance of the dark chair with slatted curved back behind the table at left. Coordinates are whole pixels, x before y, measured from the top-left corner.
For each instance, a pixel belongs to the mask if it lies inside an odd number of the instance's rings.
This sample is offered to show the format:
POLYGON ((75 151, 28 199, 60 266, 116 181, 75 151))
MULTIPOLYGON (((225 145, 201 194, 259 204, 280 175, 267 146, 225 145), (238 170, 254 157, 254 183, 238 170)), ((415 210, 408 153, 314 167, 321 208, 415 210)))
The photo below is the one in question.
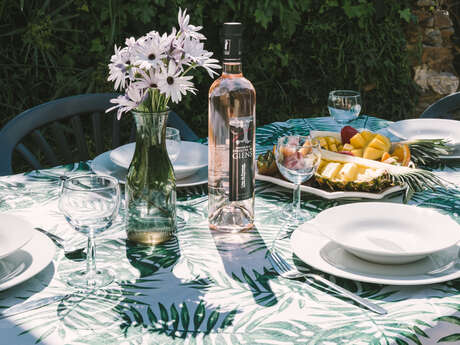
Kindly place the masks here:
MULTIPOLYGON (((50 101, 11 119, 0 130, 0 176, 13 174, 13 152, 32 169, 76 161, 134 141, 136 127, 130 116, 117 120, 116 111, 106 114, 112 93, 82 94, 50 101), (123 130, 130 128, 129 130, 123 130), (46 163, 45 163, 46 162, 46 163)), ((174 112, 168 126, 180 130, 181 138, 198 136, 174 112)))

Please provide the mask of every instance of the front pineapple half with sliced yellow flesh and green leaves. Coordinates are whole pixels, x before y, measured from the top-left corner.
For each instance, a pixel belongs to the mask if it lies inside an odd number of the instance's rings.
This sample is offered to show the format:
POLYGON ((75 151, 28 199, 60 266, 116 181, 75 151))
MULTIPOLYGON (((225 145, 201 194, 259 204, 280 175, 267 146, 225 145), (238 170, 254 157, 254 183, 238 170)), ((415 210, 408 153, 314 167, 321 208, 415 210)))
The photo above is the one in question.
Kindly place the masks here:
POLYGON ((445 188, 449 184, 430 171, 390 165, 324 149, 321 149, 321 163, 315 180, 321 188, 331 191, 379 193, 390 186, 406 186, 404 202, 414 192, 445 188))

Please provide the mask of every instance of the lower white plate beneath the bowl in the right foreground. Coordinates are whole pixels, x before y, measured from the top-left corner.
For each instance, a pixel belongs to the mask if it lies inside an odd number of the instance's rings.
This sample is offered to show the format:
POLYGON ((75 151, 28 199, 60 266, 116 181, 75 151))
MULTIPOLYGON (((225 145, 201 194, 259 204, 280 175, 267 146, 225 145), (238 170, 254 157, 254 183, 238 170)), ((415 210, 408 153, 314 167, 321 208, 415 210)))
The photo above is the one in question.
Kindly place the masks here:
POLYGON ((305 223, 292 233, 294 254, 309 266, 325 273, 361 282, 386 285, 435 284, 460 278, 460 270, 452 267, 434 273, 457 258, 459 248, 431 254, 424 259, 403 265, 382 265, 362 260, 330 241, 305 223), (432 272, 432 273, 430 273, 432 272))

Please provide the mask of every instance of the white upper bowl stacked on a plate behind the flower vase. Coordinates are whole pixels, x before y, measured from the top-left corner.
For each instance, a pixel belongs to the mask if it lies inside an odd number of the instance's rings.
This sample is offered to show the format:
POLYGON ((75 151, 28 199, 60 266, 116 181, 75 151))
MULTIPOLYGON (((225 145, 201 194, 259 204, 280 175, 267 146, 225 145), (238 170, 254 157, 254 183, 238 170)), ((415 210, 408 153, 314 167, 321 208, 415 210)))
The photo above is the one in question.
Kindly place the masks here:
MULTIPOLYGON (((136 143, 129 143, 110 151, 110 159, 119 166, 128 169, 133 159, 136 143)), ((193 141, 181 141, 180 153, 173 162, 176 179, 193 175, 208 165, 208 147, 193 141)))

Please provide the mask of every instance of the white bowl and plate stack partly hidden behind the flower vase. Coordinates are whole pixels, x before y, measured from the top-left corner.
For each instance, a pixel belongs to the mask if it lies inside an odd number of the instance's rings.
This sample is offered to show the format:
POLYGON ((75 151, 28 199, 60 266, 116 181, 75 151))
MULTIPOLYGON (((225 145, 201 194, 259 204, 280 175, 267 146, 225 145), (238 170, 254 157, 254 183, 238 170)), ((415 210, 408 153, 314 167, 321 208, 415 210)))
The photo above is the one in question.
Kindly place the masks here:
MULTIPOLYGON (((130 143, 93 159, 91 169, 98 174, 116 177, 124 183, 136 144, 130 143)), ((177 187, 208 182, 208 147, 192 141, 181 141, 179 157, 173 162, 177 187)))

